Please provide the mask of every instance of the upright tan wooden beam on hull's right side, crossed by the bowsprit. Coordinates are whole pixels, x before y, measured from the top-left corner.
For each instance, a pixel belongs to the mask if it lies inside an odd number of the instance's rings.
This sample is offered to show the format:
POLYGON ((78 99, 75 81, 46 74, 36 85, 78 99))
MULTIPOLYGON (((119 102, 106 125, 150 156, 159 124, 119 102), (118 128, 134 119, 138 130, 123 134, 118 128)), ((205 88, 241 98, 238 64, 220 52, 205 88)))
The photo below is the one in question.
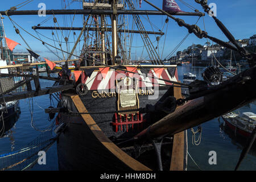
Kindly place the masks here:
MULTIPOLYGON (((181 88, 174 87, 174 97, 182 98, 181 88)), ((184 169, 184 131, 174 135, 174 144, 172 145, 172 158, 170 171, 183 171, 184 169)))

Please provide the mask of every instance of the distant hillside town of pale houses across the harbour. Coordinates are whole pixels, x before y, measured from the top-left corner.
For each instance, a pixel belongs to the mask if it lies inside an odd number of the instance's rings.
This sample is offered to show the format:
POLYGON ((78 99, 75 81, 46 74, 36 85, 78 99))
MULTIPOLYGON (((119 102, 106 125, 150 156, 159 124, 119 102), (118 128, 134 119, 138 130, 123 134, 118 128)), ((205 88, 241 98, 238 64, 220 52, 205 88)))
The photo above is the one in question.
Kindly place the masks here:
MULTIPOLYGON (((256 51, 256 34, 249 39, 236 40, 240 47, 244 47, 250 52, 256 51)), ((227 42, 234 46, 231 42, 227 42)), ((164 60, 164 63, 170 64, 193 64, 195 66, 209 66, 217 65, 216 59, 220 61, 222 65, 246 65, 247 62, 238 52, 231 51, 228 48, 224 48, 218 44, 210 44, 209 42, 204 45, 192 44, 183 51, 177 51, 176 55, 164 60)), ((149 60, 141 61, 150 63, 149 60)))

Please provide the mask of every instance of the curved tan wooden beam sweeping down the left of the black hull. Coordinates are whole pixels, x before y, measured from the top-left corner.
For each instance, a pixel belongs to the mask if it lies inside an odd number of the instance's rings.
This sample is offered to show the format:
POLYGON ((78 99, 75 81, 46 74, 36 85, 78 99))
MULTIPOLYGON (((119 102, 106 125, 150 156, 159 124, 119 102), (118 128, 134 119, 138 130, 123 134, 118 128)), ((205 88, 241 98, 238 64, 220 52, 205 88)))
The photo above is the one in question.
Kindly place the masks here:
MULTIPOLYGON (((67 94, 66 94, 67 95, 67 94)), ((68 96, 68 95, 67 95, 68 96)), ((77 110, 80 113, 88 113, 88 110, 82 103, 80 97, 78 95, 70 95, 73 103, 75 104, 77 110)), ((92 130, 95 137, 101 142, 103 146, 105 146, 112 154, 121 160, 124 164, 129 166, 133 170, 137 171, 151 171, 150 168, 144 166, 142 163, 138 162, 134 158, 131 158, 130 155, 123 152, 118 146, 116 146, 103 131, 98 127, 97 123, 89 114, 81 114, 81 117, 84 119, 84 122, 88 125, 90 130, 92 130)), ((102 164, 104 165, 104 164, 102 164)))

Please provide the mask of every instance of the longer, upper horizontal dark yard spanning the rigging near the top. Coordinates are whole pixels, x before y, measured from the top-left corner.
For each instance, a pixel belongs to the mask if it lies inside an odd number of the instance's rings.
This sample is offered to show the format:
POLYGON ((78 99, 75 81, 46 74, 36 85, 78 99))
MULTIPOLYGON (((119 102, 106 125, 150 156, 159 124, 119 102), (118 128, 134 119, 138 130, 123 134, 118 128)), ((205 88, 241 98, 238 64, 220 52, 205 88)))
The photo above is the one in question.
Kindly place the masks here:
MULTIPOLYGON (((38 15, 39 10, 25 10, 25 11, 0 11, 2 15, 38 15)), ((46 15, 112 15, 113 10, 92 10, 92 9, 76 9, 76 10, 46 10, 46 15)), ((117 14, 127 14, 127 15, 165 15, 160 11, 154 10, 117 10, 117 14)), ((179 16, 204 16, 204 13, 193 13, 193 12, 172 12, 171 15, 179 15, 179 16)))

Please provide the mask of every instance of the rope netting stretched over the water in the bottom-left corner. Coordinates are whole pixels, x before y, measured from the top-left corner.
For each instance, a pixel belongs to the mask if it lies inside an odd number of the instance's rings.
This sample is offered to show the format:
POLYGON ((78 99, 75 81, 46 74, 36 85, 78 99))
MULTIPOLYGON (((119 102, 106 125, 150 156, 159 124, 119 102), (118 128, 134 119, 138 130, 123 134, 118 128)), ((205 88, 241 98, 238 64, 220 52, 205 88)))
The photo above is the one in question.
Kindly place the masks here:
POLYGON ((20 150, 0 155, 0 171, 31 169, 40 158, 39 151, 47 151, 55 142, 52 130, 40 134, 20 150))

